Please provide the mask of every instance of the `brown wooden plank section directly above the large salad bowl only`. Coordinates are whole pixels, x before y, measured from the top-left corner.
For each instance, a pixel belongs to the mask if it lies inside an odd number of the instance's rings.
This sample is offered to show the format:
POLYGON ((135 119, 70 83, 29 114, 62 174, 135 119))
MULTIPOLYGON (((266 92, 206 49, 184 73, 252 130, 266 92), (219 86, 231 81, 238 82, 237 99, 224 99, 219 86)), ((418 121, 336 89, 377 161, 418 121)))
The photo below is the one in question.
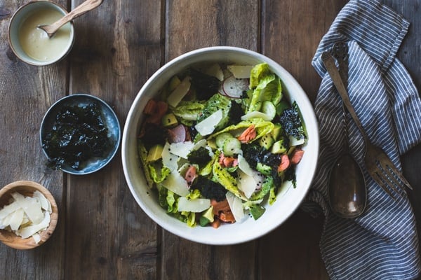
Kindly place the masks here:
POLYGON ((166 61, 196 48, 258 50, 260 1, 166 1, 166 61))

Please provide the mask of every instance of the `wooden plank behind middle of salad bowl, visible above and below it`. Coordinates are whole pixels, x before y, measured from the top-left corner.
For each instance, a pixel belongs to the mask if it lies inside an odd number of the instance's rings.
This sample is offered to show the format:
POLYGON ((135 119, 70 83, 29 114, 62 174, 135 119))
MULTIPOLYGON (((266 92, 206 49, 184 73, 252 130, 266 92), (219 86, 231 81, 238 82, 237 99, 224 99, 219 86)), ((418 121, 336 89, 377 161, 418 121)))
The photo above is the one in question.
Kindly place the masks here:
MULTIPOLYGON (((166 3, 166 61, 211 45, 258 50, 260 1, 166 3)), ((255 279, 257 274, 255 241, 206 246, 164 232, 161 246, 161 279, 255 279)))

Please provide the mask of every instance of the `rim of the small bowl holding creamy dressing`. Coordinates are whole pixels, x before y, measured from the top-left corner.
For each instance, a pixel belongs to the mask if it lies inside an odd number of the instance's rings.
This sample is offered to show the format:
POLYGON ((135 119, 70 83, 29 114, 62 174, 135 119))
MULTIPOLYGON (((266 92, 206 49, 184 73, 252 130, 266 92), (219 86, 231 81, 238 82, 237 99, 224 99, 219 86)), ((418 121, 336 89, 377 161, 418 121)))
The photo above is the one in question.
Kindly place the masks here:
MULTIPOLYGON (((23 9, 27 8, 28 6, 31 6, 31 5, 42 5, 43 3, 45 5, 55 6, 60 11, 62 11, 62 13, 64 13, 64 15, 67 15, 69 13, 67 11, 67 9, 64 6, 62 6, 60 3, 55 3, 55 2, 50 1, 50 0, 33 0, 33 1, 29 1, 29 2, 27 2, 25 4, 23 4, 22 6, 20 6, 17 10, 15 10, 15 13, 13 13, 13 15, 11 16, 11 20, 9 21, 8 29, 7 29, 8 43, 9 43, 9 45, 10 45, 11 50, 13 51, 13 53, 16 55, 16 57, 18 57, 20 60, 22 60, 22 62, 25 62, 25 63, 27 63, 29 65, 34 65, 34 66, 47 66, 47 65, 54 64, 55 62, 60 62, 60 60, 64 59, 69 54, 70 50, 72 50, 73 45, 74 45, 74 41, 75 41, 75 37, 76 37, 75 36, 75 32, 74 32, 73 21, 70 21, 69 22, 69 25, 70 25, 70 38, 71 38, 71 41, 72 42, 67 46, 66 51, 63 52, 62 55, 60 55, 59 57, 56 57, 55 59, 48 60, 46 62, 39 61, 37 59, 28 60, 25 57, 23 57, 20 54, 20 52, 18 52, 18 50, 16 50, 15 45, 12 43, 13 40, 12 40, 12 35, 11 35, 12 34, 11 27, 12 27, 13 21, 15 20, 15 17, 20 12, 22 12, 23 9)), ((31 12, 29 11, 29 13, 31 13, 31 12)), ((27 55, 27 56, 29 57, 29 55, 27 55)))

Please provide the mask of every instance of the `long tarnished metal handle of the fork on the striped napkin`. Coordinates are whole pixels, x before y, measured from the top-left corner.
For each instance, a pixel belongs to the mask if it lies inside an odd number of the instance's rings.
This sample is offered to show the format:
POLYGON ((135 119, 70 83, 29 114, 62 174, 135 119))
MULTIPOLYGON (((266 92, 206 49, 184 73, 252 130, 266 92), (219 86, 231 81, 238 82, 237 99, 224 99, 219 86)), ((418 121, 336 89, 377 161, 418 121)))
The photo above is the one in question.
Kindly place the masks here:
POLYGON ((342 98, 342 102, 344 102, 345 107, 349 111, 349 114, 352 116, 352 119, 356 123, 356 126, 359 128, 361 134, 363 135, 364 141, 368 142, 368 137, 366 132, 364 131, 363 125, 359 120, 354 107, 352 106, 351 100, 349 100, 348 92, 345 89, 344 83, 342 83, 342 79, 340 78, 340 74, 338 69, 336 69, 335 60, 333 60, 332 55, 329 52, 323 52, 321 55, 321 60, 323 61, 324 66, 328 70, 330 78, 333 80, 333 84, 335 85, 336 89, 338 90, 340 97, 342 98))

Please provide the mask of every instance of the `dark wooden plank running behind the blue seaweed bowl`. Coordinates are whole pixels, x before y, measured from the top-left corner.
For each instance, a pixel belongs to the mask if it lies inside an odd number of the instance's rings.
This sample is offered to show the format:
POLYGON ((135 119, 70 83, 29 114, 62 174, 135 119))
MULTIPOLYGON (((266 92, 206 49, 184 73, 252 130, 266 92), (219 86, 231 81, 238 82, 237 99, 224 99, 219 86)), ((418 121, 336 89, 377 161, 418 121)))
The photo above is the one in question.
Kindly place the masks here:
MULTIPOLYGON (((104 1, 75 20, 69 93, 100 97, 123 127, 138 90, 162 63, 161 10, 153 0, 104 1)), ((135 204, 120 155, 92 176, 67 178, 66 225, 73 233, 65 239, 68 279, 156 279, 157 226, 135 204)))

